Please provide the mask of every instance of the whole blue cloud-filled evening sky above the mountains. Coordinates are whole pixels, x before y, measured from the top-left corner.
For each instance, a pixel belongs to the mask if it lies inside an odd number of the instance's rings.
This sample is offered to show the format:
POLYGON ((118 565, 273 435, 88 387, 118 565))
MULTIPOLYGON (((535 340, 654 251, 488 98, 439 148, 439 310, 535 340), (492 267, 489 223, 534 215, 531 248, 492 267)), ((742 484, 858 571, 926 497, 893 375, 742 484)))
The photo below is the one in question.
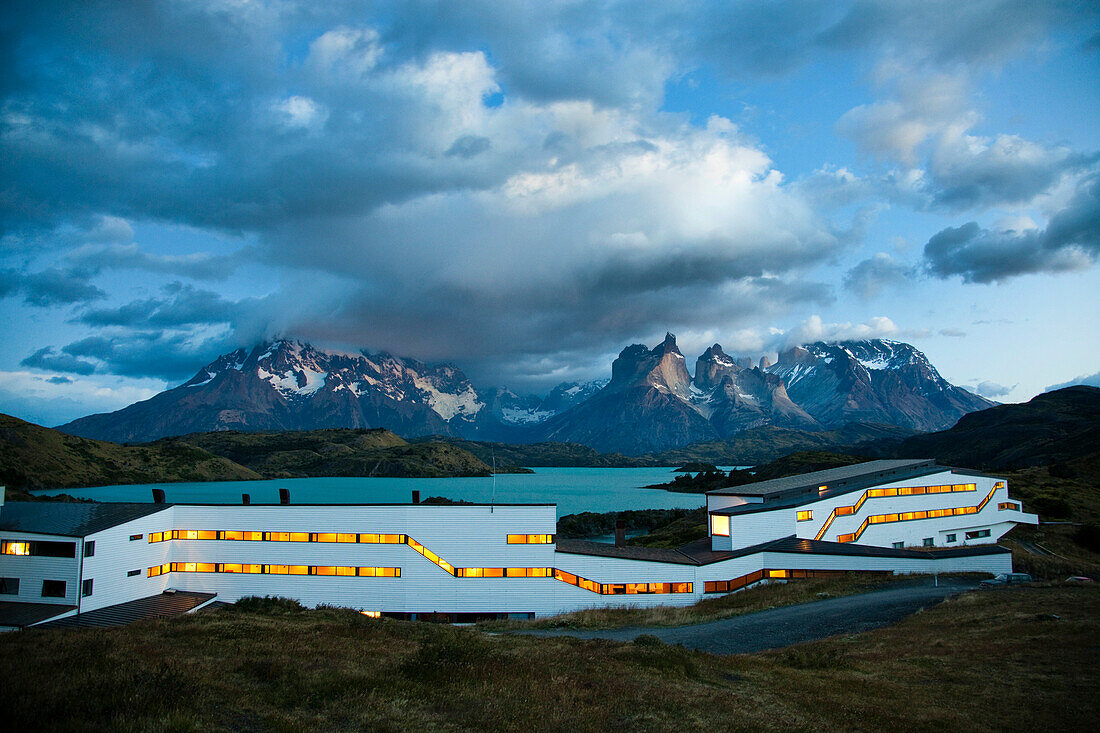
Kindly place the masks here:
POLYGON ((666 330, 1100 370, 1100 9, 7 2, 0 412, 285 335, 538 392, 666 330))

